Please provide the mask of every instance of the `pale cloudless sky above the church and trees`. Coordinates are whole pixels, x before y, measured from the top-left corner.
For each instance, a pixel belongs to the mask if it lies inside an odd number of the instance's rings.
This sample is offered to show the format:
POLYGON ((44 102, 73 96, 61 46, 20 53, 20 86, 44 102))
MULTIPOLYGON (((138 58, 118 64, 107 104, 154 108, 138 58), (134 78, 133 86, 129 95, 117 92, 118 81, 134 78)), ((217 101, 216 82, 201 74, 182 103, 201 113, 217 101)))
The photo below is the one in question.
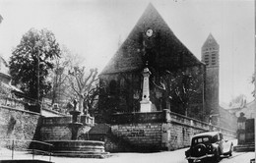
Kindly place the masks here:
POLYGON ((220 44, 220 101, 253 99, 253 0, 0 0, 0 55, 9 60, 32 27, 51 30, 60 45, 102 70, 152 3, 179 40, 201 60, 212 33, 220 44))

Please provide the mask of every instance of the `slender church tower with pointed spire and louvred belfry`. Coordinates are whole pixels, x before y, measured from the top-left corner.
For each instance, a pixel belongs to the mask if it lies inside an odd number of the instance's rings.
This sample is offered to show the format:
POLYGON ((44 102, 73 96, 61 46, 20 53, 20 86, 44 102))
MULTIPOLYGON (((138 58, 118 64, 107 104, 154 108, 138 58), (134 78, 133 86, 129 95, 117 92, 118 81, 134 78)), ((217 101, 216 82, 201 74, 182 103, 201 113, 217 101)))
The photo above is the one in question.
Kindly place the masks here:
POLYGON ((212 123, 218 125, 220 45, 210 33, 202 46, 202 62, 206 64, 206 111, 212 123))

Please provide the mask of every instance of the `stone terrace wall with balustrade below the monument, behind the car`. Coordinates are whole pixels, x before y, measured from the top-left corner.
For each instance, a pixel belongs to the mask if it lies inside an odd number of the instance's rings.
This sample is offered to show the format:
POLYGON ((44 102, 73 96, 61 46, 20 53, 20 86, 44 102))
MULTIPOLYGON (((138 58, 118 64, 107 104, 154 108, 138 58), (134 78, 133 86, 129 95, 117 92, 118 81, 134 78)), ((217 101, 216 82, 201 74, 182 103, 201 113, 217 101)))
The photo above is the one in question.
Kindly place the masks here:
POLYGON ((212 126, 167 110, 133 113, 133 116, 113 115, 111 131, 116 137, 112 144, 106 142, 107 151, 123 151, 125 148, 125 151, 175 150, 189 146, 192 136, 209 131, 220 131, 226 139, 236 136, 235 131, 212 126), (133 122, 130 120, 131 117, 133 122))

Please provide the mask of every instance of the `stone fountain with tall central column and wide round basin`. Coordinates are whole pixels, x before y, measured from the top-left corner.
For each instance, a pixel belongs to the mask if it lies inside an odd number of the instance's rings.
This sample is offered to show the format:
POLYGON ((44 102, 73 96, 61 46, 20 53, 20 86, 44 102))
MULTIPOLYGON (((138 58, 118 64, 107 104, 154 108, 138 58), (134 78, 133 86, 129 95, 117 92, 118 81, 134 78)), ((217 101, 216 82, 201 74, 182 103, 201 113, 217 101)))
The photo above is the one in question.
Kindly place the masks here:
POLYGON ((109 156, 104 150, 103 141, 78 140, 78 131, 83 124, 78 122, 81 114, 76 108, 77 101, 74 100, 74 109, 70 111, 72 123, 68 124, 71 131, 70 140, 46 140, 45 142, 53 144, 52 153, 54 156, 85 157, 85 158, 105 158, 109 156))

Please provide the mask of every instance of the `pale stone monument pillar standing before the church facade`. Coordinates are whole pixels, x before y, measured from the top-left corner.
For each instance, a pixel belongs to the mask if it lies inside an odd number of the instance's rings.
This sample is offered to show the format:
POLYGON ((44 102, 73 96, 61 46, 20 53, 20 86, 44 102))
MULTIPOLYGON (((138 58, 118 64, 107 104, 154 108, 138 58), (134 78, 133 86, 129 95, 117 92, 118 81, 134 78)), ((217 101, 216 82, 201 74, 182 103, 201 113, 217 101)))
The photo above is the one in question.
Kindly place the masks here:
POLYGON ((141 110, 140 112, 151 112, 151 104, 150 101, 150 76, 151 72, 148 68, 145 68, 142 72, 143 75, 143 93, 141 100, 141 110))

